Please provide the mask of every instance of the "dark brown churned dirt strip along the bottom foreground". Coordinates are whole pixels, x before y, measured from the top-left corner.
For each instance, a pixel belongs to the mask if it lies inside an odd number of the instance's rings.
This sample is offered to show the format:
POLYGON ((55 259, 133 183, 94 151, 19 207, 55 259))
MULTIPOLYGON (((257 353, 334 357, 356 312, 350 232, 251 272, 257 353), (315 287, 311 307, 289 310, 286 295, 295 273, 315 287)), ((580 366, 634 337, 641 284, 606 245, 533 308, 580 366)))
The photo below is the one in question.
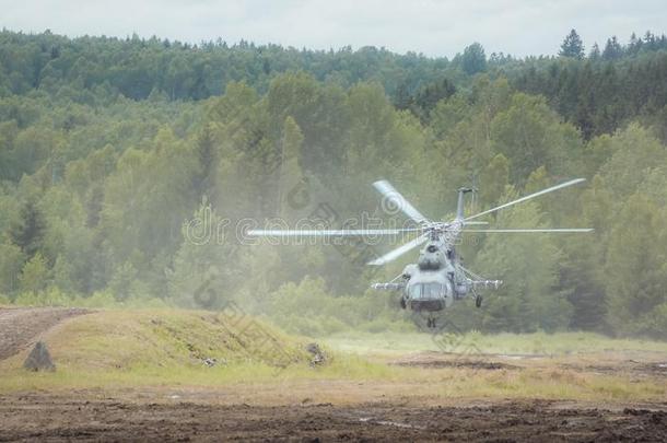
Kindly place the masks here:
POLYGON ((665 411, 549 401, 409 407, 137 404, 117 399, 0 398, 0 440, 144 441, 660 441, 665 411))

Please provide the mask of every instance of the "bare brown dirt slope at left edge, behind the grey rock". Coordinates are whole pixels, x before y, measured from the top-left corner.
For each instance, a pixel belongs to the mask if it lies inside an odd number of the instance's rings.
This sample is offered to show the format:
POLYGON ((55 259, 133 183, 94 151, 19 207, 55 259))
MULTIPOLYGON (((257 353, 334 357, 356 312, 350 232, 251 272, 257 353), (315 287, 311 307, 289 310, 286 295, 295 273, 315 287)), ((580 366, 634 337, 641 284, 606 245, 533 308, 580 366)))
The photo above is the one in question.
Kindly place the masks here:
POLYGON ((40 334, 89 311, 65 307, 0 308, 0 360, 28 348, 40 334))

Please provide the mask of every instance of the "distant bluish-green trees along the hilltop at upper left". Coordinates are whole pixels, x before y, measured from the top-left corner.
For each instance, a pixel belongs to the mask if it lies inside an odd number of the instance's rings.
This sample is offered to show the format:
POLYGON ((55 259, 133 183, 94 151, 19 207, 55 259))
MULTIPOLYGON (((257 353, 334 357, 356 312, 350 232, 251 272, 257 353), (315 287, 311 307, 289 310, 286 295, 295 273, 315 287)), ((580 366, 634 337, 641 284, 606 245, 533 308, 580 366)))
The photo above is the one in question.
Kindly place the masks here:
POLYGON ((394 91, 398 84, 413 89, 433 81, 447 65, 446 59, 412 53, 400 56, 375 47, 314 51, 246 42, 189 45, 156 37, 70 39, 49 32, 0 33, 0 96, 33 90, 58 94, 66 88, 80 91, 81 95, 70 98, 84 103, 91 103, 94 95, 114 93, 133 100, 151 93, 171 100, 201 100, 220 95, 230 81, 241 80, 266 92, 277 74, 296 70, 343 88, 375 80, 394 91))

